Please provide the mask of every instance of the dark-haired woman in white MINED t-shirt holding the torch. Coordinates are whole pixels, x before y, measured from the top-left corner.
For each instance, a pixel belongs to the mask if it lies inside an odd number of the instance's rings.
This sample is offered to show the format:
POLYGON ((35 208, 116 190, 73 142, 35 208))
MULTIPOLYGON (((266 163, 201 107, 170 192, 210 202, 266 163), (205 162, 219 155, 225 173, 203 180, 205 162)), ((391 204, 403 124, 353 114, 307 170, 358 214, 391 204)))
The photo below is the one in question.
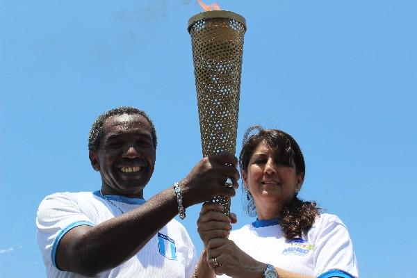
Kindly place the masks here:
POLYGON ((236 216, 223 215, 218 204, 205 204, 197 221, 204 252, 195 277, 358 277, 345 224, 320 213, 315 202, 297 198, 305 165, 290 135, 251 127, 239 165, 248 211, 257 219, 229 233, 236 216))

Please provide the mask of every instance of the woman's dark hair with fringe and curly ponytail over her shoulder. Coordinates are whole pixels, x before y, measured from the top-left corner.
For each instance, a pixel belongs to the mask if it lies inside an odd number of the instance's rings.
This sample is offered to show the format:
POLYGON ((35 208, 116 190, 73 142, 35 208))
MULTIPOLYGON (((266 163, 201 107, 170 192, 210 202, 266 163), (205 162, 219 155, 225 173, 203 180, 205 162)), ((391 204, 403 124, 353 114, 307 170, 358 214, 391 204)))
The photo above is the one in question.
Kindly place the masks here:
MULTIPOLYGON (((306 172, 304 156, 294 138, 284 131, 263 129, 262 126, 251 126, 243 136, 243 147, 239 155, 240 171, 247 172, 250 158, 261 142, 266 142, 268 146, 279 151, 281 163, 291 166, 291 161, 293 161, 297 174, 306 172), (257 133, 253 133, 253 131, 257 131, 257 133)), ((281 210, 280 223, 285 237, 287 239, 301 237, 302 232, 311 228, 316 216, 320 215, 320 210, 321 208, 317 206, 316 202, 303 201, 297 197, 297 193, 294 193, 293 199, 281 210)), ((248 192, 247 213, 250 216, 256 216, 254 199, 248 192)))

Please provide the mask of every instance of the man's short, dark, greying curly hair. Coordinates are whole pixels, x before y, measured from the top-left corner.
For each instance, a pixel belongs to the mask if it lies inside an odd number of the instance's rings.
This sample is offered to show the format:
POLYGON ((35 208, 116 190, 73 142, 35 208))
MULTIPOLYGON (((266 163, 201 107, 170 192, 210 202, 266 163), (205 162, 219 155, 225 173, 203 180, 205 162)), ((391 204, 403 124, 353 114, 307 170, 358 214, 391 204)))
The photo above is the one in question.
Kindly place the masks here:
POLYGON ((90 151, 97 151, 100 147, 100 139, 103 135, 103 124, 104 121, 107 120, 108 117, 115 116, 115 115, 141 115, 142 117, 145 117, 145 119, 149 122, 149 125, 151 126, 151 132, 152 132, 152 142, 154 143, 154 147, 156 149, 156 130, 154 123, 149 118, 147 113, 145 111, 139 110, 138 108, 134 108, 131 106, 120 106, 117 108, 113 108, 109 111, 106 111, 99 115, 97 119, 92 123, 90 134, 88 135, 88 149, 90 151))

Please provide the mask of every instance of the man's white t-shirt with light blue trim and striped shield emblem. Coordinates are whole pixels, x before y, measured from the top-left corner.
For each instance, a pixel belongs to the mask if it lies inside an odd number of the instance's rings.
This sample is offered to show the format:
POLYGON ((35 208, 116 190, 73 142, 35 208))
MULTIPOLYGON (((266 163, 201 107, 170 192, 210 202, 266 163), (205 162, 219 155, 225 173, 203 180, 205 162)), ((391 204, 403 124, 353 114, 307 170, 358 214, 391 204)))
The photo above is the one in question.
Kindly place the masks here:
MULTIPOLYGON (((144 199, 106 195, 124 213, 145 202, 144 199)), ((59 240, 67 231, 79 225, 95 225, 121 215, 116 206, 103 199, 98 191, 55 193, 45 197, 38 208, 36 227, 38 245, 47 268, 47 277, 79 278, 73 272, 56 267, 55 255, 59 240)), ((149 219, 152 221, 152 219, 149 219)), ((117 268, 101 272, 96 277, 191 277, 198 256, 186 229, 171 220, 142 250, 117 268)))

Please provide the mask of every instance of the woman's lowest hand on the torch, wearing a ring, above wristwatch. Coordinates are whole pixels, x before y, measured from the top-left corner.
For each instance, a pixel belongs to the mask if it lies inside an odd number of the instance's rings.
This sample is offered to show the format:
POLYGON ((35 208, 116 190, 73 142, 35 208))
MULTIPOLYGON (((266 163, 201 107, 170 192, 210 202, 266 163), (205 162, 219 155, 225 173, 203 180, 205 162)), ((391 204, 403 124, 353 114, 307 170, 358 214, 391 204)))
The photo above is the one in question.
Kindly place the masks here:
POLYGON ((213 238, 208 241, 207 261, 216 275, 226 274, 230 277, 262 277, 266 268, 261 263, 246 254, 227 238, 213 238))

